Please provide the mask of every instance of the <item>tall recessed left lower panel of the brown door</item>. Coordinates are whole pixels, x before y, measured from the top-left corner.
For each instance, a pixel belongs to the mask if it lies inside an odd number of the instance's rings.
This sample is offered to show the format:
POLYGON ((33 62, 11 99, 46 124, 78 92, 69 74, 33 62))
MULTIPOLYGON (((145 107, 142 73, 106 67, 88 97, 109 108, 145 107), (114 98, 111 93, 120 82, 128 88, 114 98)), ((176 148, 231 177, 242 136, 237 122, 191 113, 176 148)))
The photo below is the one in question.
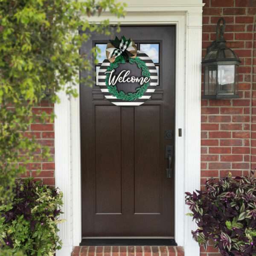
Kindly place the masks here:
POLYGON ((114 106, 96 106, 95 129, 96 214, 121 214, 120 109, 114 106))

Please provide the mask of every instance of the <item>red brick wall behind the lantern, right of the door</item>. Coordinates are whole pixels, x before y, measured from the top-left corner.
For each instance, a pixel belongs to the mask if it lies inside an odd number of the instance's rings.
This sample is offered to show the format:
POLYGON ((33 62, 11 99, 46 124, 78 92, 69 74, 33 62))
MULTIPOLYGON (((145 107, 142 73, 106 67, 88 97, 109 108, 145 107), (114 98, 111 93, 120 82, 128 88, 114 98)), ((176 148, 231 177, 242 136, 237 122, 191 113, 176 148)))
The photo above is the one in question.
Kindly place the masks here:
MULTIPOLYGON (((239 99, 202 100, 201 183, 209 177, 247 175, 256 168, 256 58, 253 21, 256 0, 203 0, 202 56, 215 40, 219 17, 226 20, 227 46, 239 55, 239 99), (254 80, 253 80, 254 79, 254 80), (253 83, 254 82, 254 83, 253 83), (254 124, 255 123, 255 124, 254 124)), ((203 81, 203 79, 202 79, 203 81)), ((203 87, 203 84, 202 84, 203 87)), ((209 246, 201 256, 217 256, 209 246)))

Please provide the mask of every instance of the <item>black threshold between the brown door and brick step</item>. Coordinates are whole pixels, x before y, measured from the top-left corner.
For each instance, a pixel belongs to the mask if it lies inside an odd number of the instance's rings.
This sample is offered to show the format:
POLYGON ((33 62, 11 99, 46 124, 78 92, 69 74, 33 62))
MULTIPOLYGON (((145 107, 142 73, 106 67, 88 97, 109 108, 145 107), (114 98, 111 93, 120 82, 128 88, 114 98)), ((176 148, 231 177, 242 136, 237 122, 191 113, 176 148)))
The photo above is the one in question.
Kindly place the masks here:
POLYGON ((80 246, 177 246, 174 238, 83 238, 80 246))

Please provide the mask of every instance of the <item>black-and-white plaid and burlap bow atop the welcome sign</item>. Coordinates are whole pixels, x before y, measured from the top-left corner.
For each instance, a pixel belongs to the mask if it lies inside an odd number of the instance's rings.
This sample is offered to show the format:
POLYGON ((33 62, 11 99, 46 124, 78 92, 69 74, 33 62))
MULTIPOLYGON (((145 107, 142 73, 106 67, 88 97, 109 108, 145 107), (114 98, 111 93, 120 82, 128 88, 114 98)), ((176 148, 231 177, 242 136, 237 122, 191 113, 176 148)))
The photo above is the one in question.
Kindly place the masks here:
POLYGON ((128 61, 130 57, 136 57, 137 48, 131 39, 126 40, 125 36, 122 36, 121 40, 116 37, 110 42, 111 44, 108 44, 106 48, 106 55, 110 62, 114 62, 120 55, 125 58, 125 61, 128 61))

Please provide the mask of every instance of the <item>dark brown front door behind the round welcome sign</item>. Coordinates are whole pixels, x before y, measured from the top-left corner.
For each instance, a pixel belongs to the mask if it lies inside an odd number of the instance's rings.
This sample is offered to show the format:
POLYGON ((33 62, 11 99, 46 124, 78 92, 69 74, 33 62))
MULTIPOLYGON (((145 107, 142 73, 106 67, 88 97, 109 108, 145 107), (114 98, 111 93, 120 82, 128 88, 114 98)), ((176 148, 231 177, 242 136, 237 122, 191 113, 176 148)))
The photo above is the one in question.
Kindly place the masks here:
MULTIPOLYGON (((167 177, 166 145, 175 144, 175 26, 122 26, 122 35, 153 59, 159 85, 136 107, 112 105, 97 85, 81 85, 82 236, 171 237, 175 154, 167 177)), ((108 39, 93 35, 81 53, 108 39)))

